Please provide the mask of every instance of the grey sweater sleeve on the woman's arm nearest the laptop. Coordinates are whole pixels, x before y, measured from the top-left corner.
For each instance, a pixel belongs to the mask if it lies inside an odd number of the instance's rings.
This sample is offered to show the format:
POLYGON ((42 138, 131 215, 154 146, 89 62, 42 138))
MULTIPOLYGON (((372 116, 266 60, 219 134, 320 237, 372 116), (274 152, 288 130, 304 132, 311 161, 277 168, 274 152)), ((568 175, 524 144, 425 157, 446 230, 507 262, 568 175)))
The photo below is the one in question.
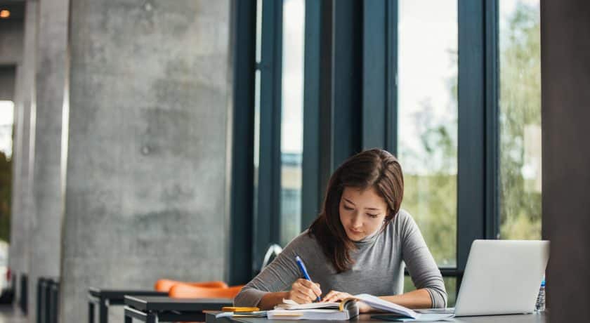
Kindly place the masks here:
POLYGON ((438 265, 416 222, 409 213, 400 211, 398 216, 401 221, 402 257, 407 266, 412 282, 417 289, 426 289, 431 296, 433 308, 445 308, 447 306, 447 291, 442 280, 438 265))

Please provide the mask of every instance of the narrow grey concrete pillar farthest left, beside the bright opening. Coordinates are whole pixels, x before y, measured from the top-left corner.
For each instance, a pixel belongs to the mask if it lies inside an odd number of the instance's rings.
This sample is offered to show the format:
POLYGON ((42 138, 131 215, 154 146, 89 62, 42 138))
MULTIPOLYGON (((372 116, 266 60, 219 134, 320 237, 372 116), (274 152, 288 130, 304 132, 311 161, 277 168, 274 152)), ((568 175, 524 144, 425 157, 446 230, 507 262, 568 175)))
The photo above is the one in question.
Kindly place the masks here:
MULTIPOLYGON (((29 222, 32 216, 31 173, 31 107, 34 95, 34 53, 37 37, 37 1, 27 1, 25 8, 25 40, 22 63, 17 67, 15 88, 15 180, 13 181, 13 210, 11 212, 11 246, 9 266, 17 277, 16 298, 22 294, 19 279, 29 270, 29 222)), ((15 302, 16 304, 16 302, 15 302)))

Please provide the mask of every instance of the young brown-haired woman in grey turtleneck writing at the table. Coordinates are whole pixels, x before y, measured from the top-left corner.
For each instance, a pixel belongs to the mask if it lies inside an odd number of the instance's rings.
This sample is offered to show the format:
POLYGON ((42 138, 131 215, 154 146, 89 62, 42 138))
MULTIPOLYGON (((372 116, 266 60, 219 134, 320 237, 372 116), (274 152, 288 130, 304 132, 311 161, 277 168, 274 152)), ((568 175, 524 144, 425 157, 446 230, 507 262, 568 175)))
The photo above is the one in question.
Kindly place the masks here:
POLYGON ((350 157, 332 174, 320 216, 244 286, 235 305, 268 310, 283 298, 334 302, 367 293, 409 308, 445 307, 440 270, 412 216, 400 210, 403 191, 402 169, 389 152, 350 157), (296 256, 313 282, 301 278, 296 256), (405 294, 403 263, 417 287, 405 294))

